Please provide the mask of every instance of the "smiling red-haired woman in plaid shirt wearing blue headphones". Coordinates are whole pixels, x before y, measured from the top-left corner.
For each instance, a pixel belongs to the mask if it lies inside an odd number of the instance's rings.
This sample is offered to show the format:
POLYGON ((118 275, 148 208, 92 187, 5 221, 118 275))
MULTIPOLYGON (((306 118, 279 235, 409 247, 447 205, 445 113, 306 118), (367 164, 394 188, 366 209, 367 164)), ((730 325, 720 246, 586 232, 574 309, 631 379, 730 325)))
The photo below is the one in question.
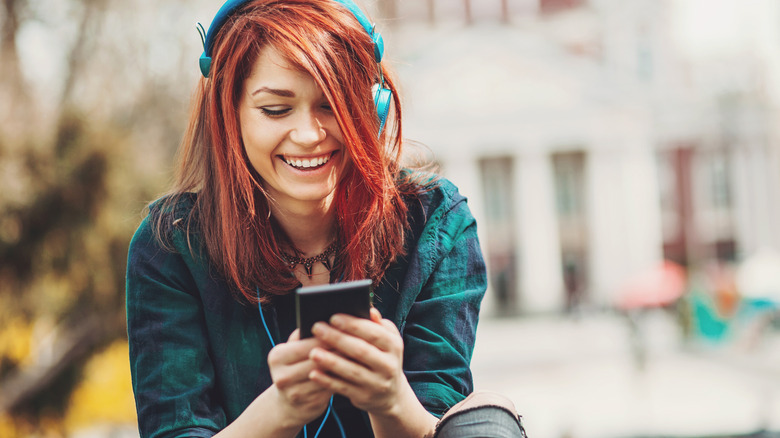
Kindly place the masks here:
POLYGON ((447 431, 486 415, 463 401, 476 225, 449 182, 399 166, 381 37, 351 1, 231 0, 204 49, 176 183, 129 252, 141 435, 466 436, 447 431), (292 291, 362 278, 371 319, 300 339, 292 291))

